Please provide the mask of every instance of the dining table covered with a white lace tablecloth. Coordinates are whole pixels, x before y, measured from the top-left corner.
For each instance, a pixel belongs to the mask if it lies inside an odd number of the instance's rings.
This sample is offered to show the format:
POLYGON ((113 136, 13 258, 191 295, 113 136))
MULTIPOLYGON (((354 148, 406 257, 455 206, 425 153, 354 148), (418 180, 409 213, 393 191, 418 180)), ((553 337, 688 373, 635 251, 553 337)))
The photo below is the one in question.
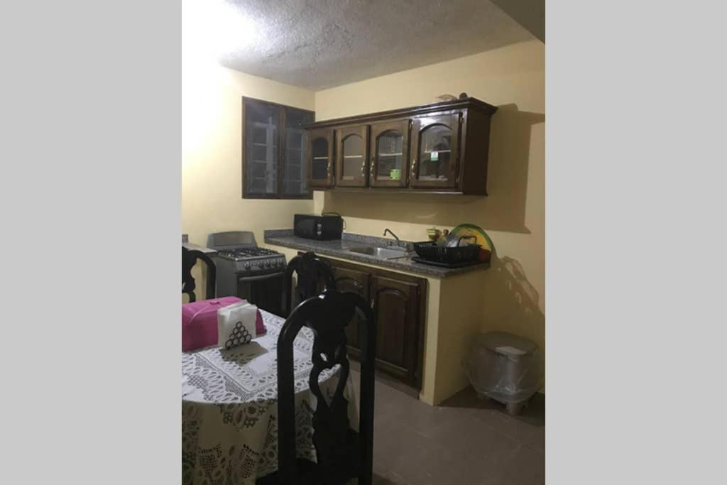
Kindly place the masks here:
MULTIPOLYGON (((216 345, 182 352, 182 484, 252 485, 278 468, 278 368, 276 347, 284 318, 260 310, 267 329, 245 345, 216 345)), ((308 388, 313 367, 313 331, 304 326, 294 340, 297 457, 316 462, 313 412, 308 388)), ((332 398, 340 366, 318 378, 332 398)), ((348 418, 358 428, 356 391, 349 374, 344 388, 348 418)))

